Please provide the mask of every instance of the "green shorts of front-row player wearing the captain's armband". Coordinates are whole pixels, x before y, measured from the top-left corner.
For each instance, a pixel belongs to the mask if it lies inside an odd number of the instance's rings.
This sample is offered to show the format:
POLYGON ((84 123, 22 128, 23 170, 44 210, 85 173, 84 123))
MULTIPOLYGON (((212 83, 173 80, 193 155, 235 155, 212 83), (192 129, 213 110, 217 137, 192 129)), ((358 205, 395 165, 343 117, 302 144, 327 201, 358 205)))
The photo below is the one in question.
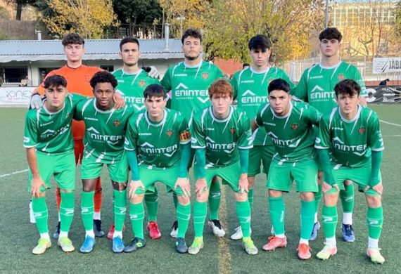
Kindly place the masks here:
POLYGON ((139 178, 141 178, 141 182, 144 185, 145 189, 143 190, 142 188, 138 188, 135 191, 135 194, 154 192, 155 183, 160 182, 164 183, 167 186, 167 190, 169 190, 169 192, 174 192, 179 196, 184 195, 184 192, 181 188, 178 187, 176 190, 174 190, 174 185, 177 182, 179 174, 179 164, 165 169, 150 169, 149 167, 150 166, 146 165, 141 165, 138 167, 139 178))

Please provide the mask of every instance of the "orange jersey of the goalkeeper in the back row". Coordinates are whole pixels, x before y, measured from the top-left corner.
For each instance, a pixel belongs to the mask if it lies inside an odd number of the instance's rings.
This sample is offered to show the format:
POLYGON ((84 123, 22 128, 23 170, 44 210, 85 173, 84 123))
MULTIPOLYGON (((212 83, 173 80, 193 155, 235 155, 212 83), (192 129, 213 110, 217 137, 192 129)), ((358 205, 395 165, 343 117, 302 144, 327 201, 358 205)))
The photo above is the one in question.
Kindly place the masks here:
MULTIPOLYGON (((91 77, 94 76, 96 72, 101 72, 102 69, 99 67, 88 67, 86 65, 81 65, 77 68, 68 67, 65 65, 64 67, 59 68, 58 70, 52 70, 49 72, 45 79, 51 75, 61 75, 67 80, 67 90, 71 93, 82 94, 83 96, 93 96, 92 87, 89 84, 91 77)), ((44 81, 40 84, 40 86, 35 89, 35 91, 39 92, 41 95, 44 95, 44 81)), ((75 121, 72 120, 72 136, 75 140, 83 139, 85 133, 85 125, 83 121, 75 121)))

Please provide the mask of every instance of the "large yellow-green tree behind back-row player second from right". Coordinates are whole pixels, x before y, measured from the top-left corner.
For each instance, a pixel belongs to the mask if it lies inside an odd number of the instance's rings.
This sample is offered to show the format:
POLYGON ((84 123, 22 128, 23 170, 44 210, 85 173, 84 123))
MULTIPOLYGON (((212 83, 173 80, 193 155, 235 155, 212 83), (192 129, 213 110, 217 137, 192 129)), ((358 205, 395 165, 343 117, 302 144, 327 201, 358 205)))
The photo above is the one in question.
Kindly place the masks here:
POLYGON ((276 62, 305 58, 323 15, 320 0, 215 0, 206 18, 206 51, 210 59, 249 62, 248 40, 267 34, 276 62))

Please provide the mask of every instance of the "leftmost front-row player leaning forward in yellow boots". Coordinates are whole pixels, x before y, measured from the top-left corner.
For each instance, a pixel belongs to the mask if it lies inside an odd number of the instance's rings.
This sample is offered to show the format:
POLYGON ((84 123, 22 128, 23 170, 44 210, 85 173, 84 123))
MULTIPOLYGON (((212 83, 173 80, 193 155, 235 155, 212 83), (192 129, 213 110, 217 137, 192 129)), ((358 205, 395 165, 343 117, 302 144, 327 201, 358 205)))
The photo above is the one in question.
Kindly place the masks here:
POLYGON ((61 189, 61 232, 58 245, 64 252, 74 251, 68 231, 74 216, 75 164, 71 122, 82 96, 68 94, 67 81, 59 75, 44 81, 46 100, 39 110, 28 110, 25 119, 24 147, 29 164, 28 178, 32 209, 40 233, 33 254, 42 254, 51 247, 47 224, 46 188, 53 175, 61 189))

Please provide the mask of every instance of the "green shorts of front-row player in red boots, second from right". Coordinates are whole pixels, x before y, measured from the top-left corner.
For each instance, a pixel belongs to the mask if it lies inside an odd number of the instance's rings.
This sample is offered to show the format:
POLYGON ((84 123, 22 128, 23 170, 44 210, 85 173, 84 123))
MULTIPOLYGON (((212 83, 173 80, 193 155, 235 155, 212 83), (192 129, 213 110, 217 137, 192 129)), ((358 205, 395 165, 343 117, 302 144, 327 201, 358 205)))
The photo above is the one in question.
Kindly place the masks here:
POLYGON ((279 162, 277 159, 272 159, 266 187, 289 192, 293 181, 297 184, 297 192, 316 193, 318 190, 316 159, 303 162, 279 162))

